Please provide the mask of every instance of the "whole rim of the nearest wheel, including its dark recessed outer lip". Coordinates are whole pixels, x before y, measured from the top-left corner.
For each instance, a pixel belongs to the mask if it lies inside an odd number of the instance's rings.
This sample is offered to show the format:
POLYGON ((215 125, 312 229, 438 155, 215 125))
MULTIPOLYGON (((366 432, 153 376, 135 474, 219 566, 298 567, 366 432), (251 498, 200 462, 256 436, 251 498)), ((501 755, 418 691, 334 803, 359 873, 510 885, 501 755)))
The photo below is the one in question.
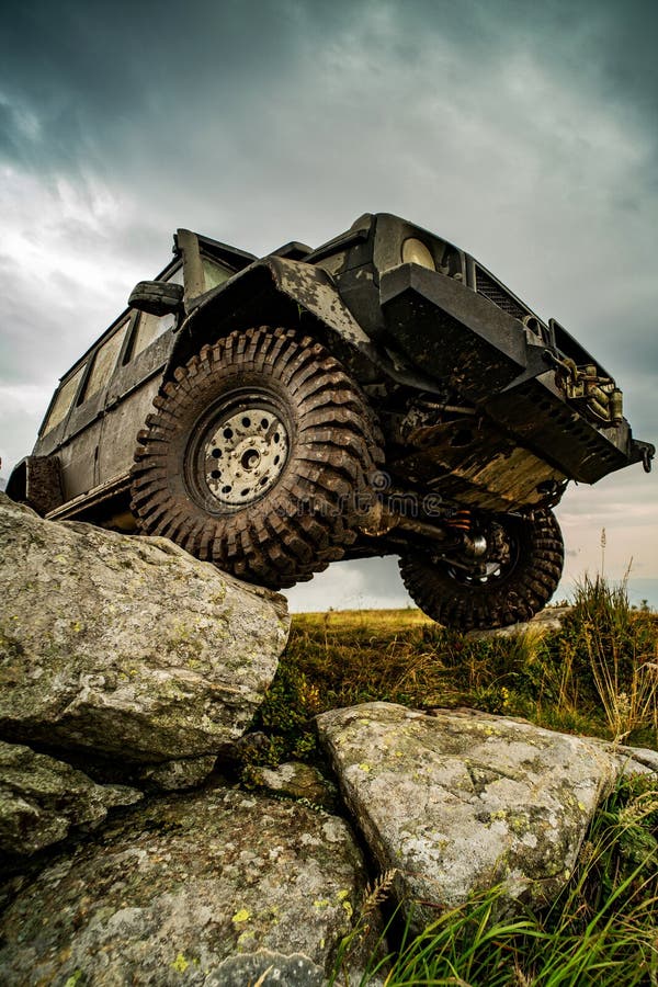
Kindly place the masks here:
POLYGON ((232 512, 260 500, 279 481, 290 451, 282 413, 266 399, 232 400, 198 429, 188 456, 188 479, 212 512, 232 512))

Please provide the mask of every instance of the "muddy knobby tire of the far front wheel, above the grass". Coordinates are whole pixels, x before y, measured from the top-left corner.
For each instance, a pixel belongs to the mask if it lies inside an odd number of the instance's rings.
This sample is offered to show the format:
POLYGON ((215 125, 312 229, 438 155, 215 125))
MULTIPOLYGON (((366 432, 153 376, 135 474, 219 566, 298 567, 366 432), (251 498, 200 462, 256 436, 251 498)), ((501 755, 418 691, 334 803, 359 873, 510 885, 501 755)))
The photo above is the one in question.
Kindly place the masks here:
POLYGON ((506 627, 529 621, 557 589, 564 545, 553 511, 496 520, 512 551, 508 564, 484 581, 464 578, 450 563, 434 561, 429 552, 413 549, 400 557, 409 595, 432 620, 461 631, 506 627))

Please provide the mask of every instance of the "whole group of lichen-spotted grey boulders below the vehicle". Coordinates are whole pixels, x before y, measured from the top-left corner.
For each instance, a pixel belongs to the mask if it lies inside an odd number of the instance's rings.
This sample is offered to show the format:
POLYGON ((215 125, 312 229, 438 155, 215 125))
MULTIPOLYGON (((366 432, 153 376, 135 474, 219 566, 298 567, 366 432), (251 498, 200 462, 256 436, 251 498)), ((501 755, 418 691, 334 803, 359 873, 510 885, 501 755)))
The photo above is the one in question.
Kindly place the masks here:
POLYGON ((655 751, 370 703, 317 721, 341 802, 325 768, 264 767, 269 738, 245 734, 282 598, 2 495, 0 559, 3 984, 320 985, 365 888, 350 825, 416 924, 494 884, 535 906, 614 780, 658 773, 655 751))

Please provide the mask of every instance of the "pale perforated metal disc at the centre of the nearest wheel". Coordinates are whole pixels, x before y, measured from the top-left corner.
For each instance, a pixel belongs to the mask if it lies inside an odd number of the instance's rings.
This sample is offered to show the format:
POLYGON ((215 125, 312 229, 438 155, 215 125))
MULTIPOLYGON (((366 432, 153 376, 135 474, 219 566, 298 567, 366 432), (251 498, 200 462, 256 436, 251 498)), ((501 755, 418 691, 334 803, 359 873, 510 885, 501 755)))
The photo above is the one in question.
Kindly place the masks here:
POLYGON ((271 408, 250 407, 224 418, 204 446, 204 476, 219 503, 252 503, 274 486, 285 466, 288 434, 271 408))

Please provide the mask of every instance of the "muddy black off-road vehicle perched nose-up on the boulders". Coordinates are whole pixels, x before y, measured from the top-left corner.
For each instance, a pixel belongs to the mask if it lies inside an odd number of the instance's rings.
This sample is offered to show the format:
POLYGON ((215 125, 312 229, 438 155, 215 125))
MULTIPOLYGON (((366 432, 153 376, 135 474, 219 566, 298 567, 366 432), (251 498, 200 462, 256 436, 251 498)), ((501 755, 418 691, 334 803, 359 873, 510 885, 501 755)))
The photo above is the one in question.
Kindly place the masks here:
POLYGON ((275 588, 395 554, 431 617, 499 626, 557 587, 567 483, 650 467, 601 364, 410 223, 366 214, 261 259, 179 229, 173 253, 9 480, 47 518, 164 535, 275 588))

